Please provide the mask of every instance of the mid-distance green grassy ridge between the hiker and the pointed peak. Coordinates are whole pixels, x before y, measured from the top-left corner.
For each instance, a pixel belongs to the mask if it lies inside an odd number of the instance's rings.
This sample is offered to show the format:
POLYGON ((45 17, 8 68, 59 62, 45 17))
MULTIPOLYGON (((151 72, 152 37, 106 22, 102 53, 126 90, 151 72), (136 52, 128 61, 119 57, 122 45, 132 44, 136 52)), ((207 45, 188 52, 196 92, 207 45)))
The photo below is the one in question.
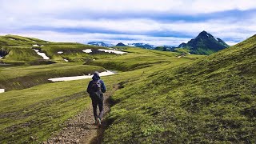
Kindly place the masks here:
POLYGON ((162 63, 179 65, 203 57, 201 55, 186 55, 184 58, 178 58, 178 55, 180 54, 174 52, 145 50, 131 47, 126 47, 125 51, 128 52, 128 54, 120 57, 98 59, 93 62, 86 62, 86 64, 102 66, 106 69, 127 71, 142 69, 162 63))

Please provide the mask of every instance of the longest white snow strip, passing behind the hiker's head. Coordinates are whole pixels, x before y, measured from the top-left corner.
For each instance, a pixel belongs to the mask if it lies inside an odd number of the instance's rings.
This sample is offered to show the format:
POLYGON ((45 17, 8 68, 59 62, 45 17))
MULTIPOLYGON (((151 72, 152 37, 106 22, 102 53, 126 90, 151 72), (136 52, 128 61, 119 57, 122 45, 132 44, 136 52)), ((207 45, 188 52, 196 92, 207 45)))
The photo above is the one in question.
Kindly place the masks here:
MULTIPOLYGON (((112 75, 114 72, 110 70, 106 70, 102 73, 99 73, 99 76, 107 76, 107 75, 112 75)), ((74 76, 74 77, 62 77, 62 78, 50 78, 48 79, 51 82, 62 82, 62 81, 74 81, 74 80, 79 80, 79 79, 86 79, 86 78, 92 78, 93 75, 88 74, 88 75, 82 75, 82 76, 74 76)))

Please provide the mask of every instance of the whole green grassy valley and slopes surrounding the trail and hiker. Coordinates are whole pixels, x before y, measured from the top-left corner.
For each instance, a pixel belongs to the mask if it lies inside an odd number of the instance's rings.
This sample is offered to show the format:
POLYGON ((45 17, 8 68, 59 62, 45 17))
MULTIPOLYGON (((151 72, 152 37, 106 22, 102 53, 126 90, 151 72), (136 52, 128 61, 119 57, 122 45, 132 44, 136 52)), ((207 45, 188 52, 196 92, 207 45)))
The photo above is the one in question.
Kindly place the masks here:
POLYGON ((49 79, 96 70, 115 71, 102 77, 111 92, 102 142, 256 142, 255 35, 210 56, 13 35, 0 37, 0 46, 2 143, 40 143, 58 135, 90 108, 90 79, 49 79))

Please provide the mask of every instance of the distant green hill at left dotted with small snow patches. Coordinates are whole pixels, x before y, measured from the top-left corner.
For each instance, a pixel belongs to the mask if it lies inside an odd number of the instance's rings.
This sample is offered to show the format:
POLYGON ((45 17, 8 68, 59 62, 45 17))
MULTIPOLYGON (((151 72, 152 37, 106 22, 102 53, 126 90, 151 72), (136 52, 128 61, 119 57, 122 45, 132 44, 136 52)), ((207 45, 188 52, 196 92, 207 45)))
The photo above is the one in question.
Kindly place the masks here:
POLYGON ((107 49, 102 46, 89 46, 76 42, 47 42, 38 38, 26 38, 17 35, 0 36, 0 56, 1 62, 12 65, 35 65, 65 62, 90 62, 94 59, 112 58, 118 54, 110 54, 97 51, 107 49), (42 59, 33 49, 45 53, 49 60, 42 59), (82 50, 91 49, 93 53, 86 54, 82 50), (62 52, 62 54, 58 54, 62 52))

